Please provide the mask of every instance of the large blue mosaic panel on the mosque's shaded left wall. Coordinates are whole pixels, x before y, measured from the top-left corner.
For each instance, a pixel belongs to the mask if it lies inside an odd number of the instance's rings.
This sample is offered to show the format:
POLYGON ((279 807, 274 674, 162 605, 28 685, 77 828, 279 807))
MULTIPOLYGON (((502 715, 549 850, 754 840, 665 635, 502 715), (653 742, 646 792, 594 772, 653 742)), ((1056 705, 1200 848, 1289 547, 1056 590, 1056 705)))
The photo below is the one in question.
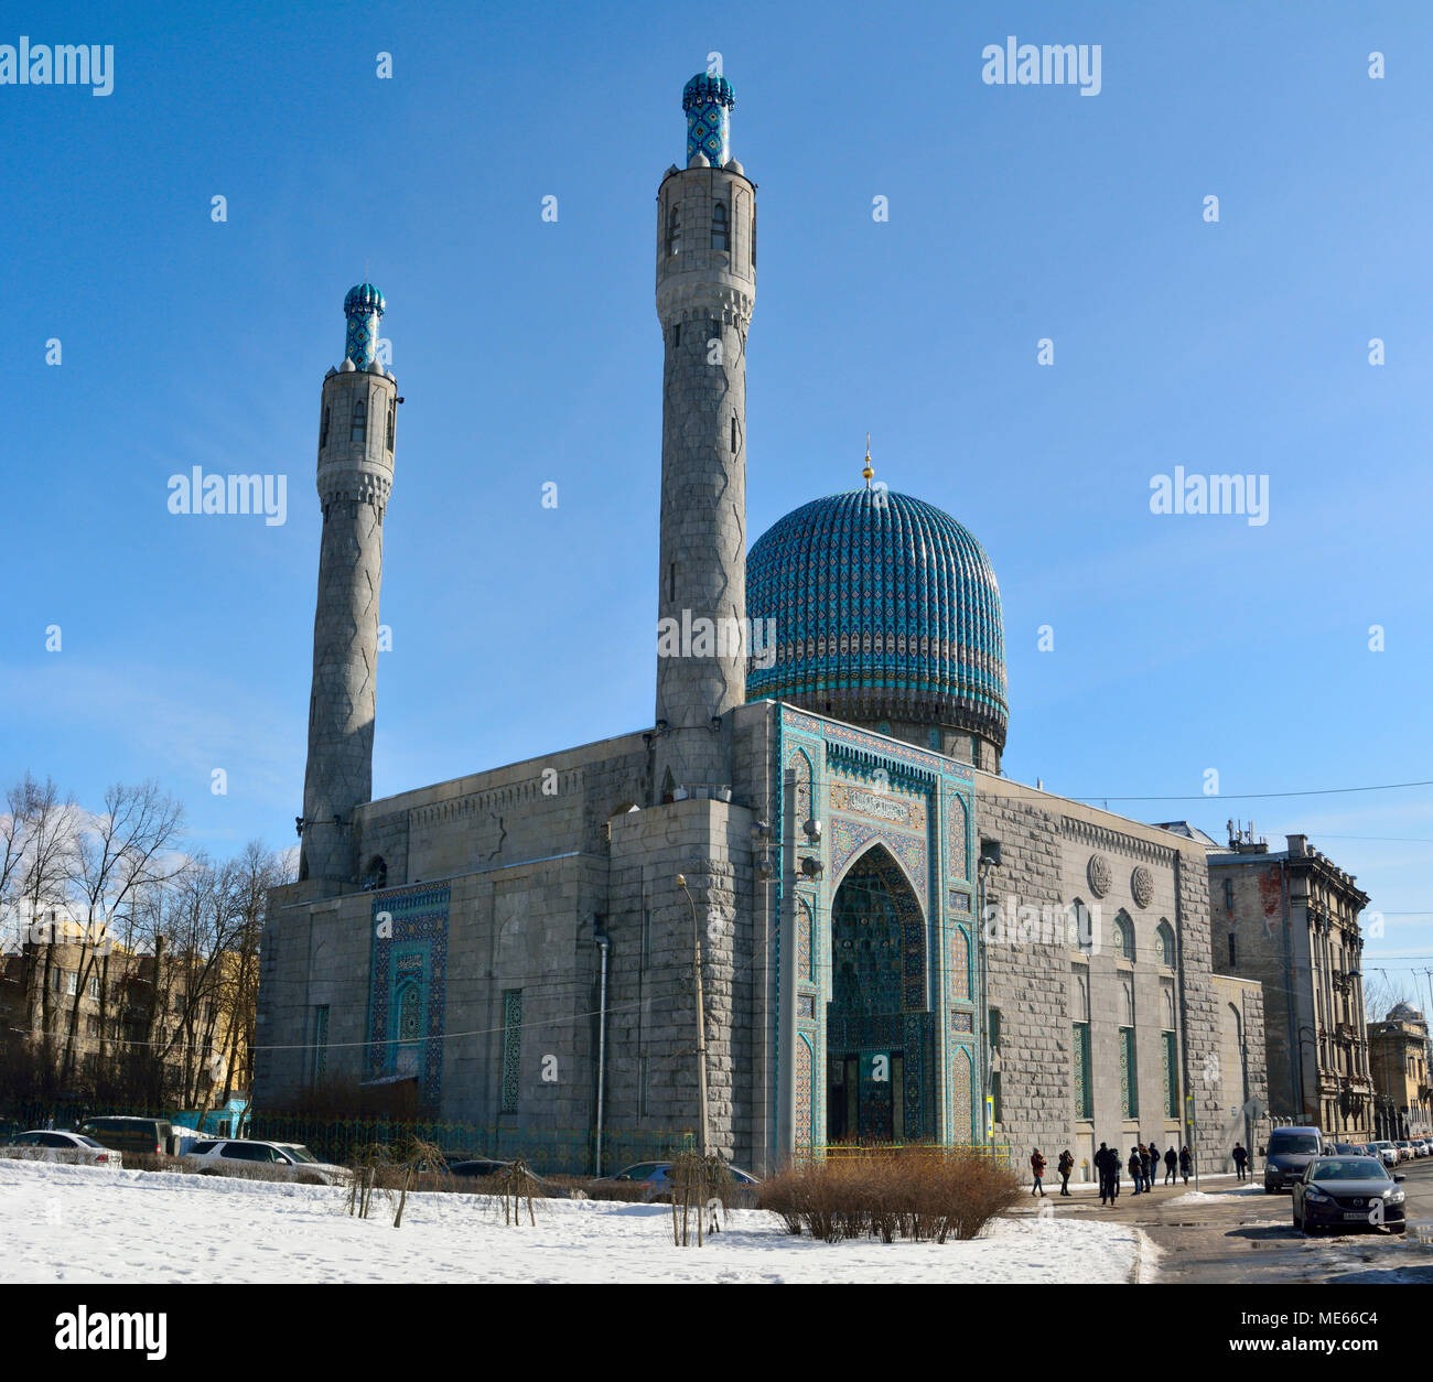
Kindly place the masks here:
MULTIPOLYGON (((436 1108, 443 1088, 443 1023, 447 1002, 447 922, 450 889, 403 888, 373 897, 373 961, 368 988, 368 1077, 394 1073, 394 1021, 410 1020, 413 992, 427 990, 417 1011, 414 1040, 423 1043, 418 1094, 424 1108, 436 1108), (388 924, 380 927, 381 914, 388 924), (383 934, 380 934, 383 932, 383 934), (410 1010, 394 1004, 401 995, 410 1010)), ((404 1040, 408 1040, 407 1037, 404 1040)))

